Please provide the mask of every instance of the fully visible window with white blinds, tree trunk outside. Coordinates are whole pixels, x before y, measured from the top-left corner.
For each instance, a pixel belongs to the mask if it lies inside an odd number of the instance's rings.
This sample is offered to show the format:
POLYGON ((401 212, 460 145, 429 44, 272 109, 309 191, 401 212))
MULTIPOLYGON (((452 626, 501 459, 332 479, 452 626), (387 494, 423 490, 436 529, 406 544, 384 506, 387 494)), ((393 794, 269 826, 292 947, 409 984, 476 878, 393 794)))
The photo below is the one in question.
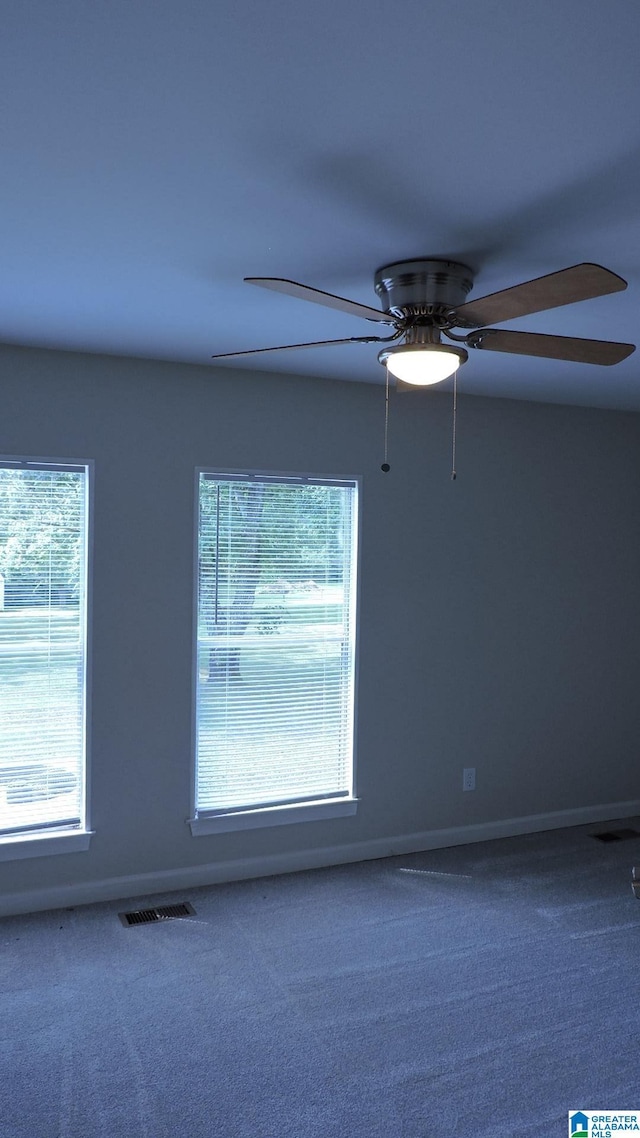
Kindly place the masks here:
POLYGON ((356 489, 199 473, 194 833, 354 813, 356 489))

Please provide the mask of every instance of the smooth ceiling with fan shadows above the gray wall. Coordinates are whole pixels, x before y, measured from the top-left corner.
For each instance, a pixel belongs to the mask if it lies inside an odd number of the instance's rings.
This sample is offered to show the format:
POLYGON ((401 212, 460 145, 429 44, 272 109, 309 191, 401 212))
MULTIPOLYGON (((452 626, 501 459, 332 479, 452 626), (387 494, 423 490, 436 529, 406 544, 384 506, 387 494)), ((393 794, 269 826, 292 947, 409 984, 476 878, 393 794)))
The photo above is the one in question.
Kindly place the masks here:
MULTIPOLYGON (((625 292, 514 327, 639 343, 639 60, 634 0, 6 5, 0 339, 206 364, 375 335, 243 277, 377 307, 379 265, 435 256, 469 299, 602 264, 625 292)), ((377 382, 376 355, 235 365, 377 382)), ((640 351, 471 353, 460 387, 640 410, 640 351)))

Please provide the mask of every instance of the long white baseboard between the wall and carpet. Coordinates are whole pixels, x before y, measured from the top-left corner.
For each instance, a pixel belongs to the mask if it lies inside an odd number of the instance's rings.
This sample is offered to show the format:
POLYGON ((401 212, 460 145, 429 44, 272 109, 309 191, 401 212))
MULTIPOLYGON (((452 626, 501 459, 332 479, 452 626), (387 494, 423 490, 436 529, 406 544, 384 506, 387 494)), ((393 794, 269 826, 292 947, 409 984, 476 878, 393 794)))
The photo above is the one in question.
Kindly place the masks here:
POLYGON ((551 814, 531 814, 520 818, 503 818, 471 826, 450 830, 427 830, 422 833, 397 834, 371 841, 351 842, 345 846, 320 847, 272 853, 268 857, 239 858, 235 861, 196 865, 157 873, 131 874, 99 881, 52 885, 0 897, 0 916, 38 913, 44 909, 69 908, 98 901, 115 901, 167 893, 177 890, 216 885, 229 881, 271 877, 280 873, 320 869, 350 861, 369 861, 393 857, 396 853, 417 853, 421 850, 443 849, 446 846, 466 846, 495 838, 534 834, 544 830, 583 826, 591 823, 613 822, 616 818, 640 816, 640 799, 629 802, 609 802, 607 806, 580 807, 575 810, 555 810, 551 814))

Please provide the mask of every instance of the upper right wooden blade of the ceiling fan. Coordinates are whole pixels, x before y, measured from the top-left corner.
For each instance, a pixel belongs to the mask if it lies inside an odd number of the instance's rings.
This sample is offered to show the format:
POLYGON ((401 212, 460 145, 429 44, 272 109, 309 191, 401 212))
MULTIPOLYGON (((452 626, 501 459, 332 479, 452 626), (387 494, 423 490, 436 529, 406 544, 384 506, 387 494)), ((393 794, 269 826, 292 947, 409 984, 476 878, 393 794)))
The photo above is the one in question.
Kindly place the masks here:
POLYGON ((528 316, 532 312, 559 308, 563 304, 589 300, 607 292, 621 292, 626 281, 601 265, 582 264, 561 269, 547 277, 538 277, 524 284, 481 296, 468 300, 456 310, 460 318, 457 327, 478 328, 483 324, 501 324, 504 320, 528 316))

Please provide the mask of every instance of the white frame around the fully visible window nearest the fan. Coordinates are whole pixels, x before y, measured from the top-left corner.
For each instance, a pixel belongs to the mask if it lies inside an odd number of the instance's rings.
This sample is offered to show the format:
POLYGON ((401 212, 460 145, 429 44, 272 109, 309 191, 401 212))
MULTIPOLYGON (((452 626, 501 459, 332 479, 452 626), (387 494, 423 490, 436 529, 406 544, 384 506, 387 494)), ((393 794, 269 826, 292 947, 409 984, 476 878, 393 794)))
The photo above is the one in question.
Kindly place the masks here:
POLYGON ((229 470, 220 467, 198 467, 195 472, 194 493, 194 654, 192 654, 192 719, 191 719, 191 806, 190 817, 187 819, 194 838, 207 834, 228 833, 241 830, 256 830, 268 826, 282 826, 300 822, 317 822, 326 818, 348 817, 358 810, 356 786, 356 756, 358 756, 358 648, 359 648, 359 624, 360 624, 360 545, 361 545, 361 478, 360 477, 329 477, 325 475, 310 475, 292 471, 273 470, 229 470), (353 485, 356 493, 356 517, 352 533, 353 539, 353 591, 354 601, 352 610, 353 620, 353 751, 352 751, 352 778, 351 792, 342 798, 331 800, 319 799, 312 802, 294 802, 292 805, 278 805, 266 807, 252 807, 248 809, 233 809, 227 814, 206 815, 199 814, 196 806, 196 756, 198 744, 197 725, 197 684, 198 684, 198 569, 199 569, 199 479, 200 475, 210 475, 212 478, 220 477, 232 480, 248 481, 252 478, 280 483, 298 481, 323 483, 326 485, 353 485))

